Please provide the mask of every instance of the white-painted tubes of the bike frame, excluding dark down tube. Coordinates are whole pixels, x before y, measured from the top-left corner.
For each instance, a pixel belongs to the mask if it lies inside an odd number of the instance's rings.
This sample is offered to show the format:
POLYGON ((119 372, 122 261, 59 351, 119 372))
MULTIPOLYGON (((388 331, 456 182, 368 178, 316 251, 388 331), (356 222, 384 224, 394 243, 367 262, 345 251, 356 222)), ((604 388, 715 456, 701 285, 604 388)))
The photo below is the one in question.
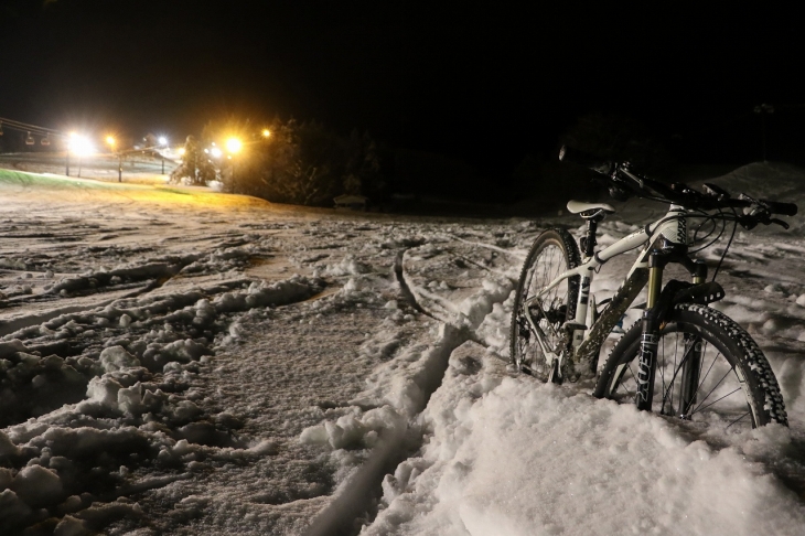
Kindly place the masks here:
MULTIPOLYGON (((637 247, 644 246, 643 251, 641 251, 641 254, 637 256, 637 260, 635 260, 634 265, 632 265, 632 268, 629 270, 629 274, 624 278, 624 282, 621 285, 622 289, 623 285, 625 285, 625 282, 630 279, 630 277, 632 276, 632 274, 634 274, 636 269, 648 267, 648 253, 652 248, 652 245, 658 237, 662 236, 673 244, 687 245, 687 225, 685 217, 687 211, 685 207, 672 204, 667 214, 665 214, 665 216, 663 216, 662 218, 657 219, 653 224, 647 225, 646 227, 643 227, 640 231, 632 233, 631 235, 621 238, 620 240, 611 244, 601 251, 598 251, 592 257, 586 257, 580 266, 560 274, 556 279, 548 283, 548 286, 539 290, 534 297, 526 300, 526 302, 524 303, 524 310, 526 312, 525 317, 528 320, 532 330, 536 334, 537 342, 548 364, 552 363, 554 361, 558 361, 559 367, 561 368, 561 360, 565 357, 565 353, 561 352, 561 349, 550 347, 548 341, 545 339, 543 330, 534 322, 534 319, 529 313, 529 305, 537 304, 541 310, 540 303, 543 297, 545 297, 548 292, 555 289, 564 280, 573 276, 580 276, 581 282, 579 285, 579 296, 576 303, 576 318, 572 321, 568 321, 568 323, 581 326, 581 329, 573 330, 572 347, 573 352, 576 352, 576 350, 586 340, 584 333, 590 328, 592 328, 587 325, 587 315, 589 313, 590 303, 590 287, 592 286, 592 280, 601 265, 612 259, 613 257, 618 257, 619 255, 623 255, 626 251, 631 251, 637 247)), ((551 330, 554 329, 550 324, 548 324, 548 328, 551 330)))

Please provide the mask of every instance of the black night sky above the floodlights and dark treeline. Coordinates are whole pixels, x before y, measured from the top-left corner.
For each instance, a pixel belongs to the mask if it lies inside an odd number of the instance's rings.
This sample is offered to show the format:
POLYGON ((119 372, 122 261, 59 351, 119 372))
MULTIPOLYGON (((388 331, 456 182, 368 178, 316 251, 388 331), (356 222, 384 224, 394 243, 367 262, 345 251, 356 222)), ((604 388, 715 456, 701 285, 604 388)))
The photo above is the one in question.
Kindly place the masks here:
POLYGON ((0 0, 0 117, 175 139, 293 116, 506 176, 595 111, 681 158, 758 160, 771 103, 770 158, 805 152, 793 12, 518 3, 0 0))

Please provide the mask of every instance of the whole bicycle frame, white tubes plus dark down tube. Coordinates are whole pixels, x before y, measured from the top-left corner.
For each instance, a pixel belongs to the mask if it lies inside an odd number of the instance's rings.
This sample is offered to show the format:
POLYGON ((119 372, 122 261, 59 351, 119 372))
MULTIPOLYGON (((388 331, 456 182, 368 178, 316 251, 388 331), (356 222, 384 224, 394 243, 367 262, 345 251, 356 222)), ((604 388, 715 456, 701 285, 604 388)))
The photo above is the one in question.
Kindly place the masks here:
MULTIPOLYGON (((549 347, 545 333, 530 314, 530 308, 537 305, 543 311, 540 300, 544 296, 555 289, 561 281, 575 276, 580 277, 576 318, 572 321, 568 321, 567 324, 572 328, 571 353, 577 365, 576 372, 583 373, 583 365, 589 364, 593 356, 598 355, 601 344, 603 344, 612 328, 614 328, 615 323, 622 318, 623 313, 625 313, 626 309, 629 309, 648 282, 648 259, 651 253, 656 250, 654 244, 662 237, 667 243, 687 246, 686 214, 687 211, 685 207, 672 204, 667 214, 661 219, 621 238, 591 257, 584 258, 584 261, 580 266, 560 274, 548 286, 539 290, 524 303, 525 317, 536 334, 537 342, 545 354, 546 361, 556 361, 558 363, 557 369, 561 371, 562 361, 566 356, 562 346, 567 344, 567 339, 562 340, 558 337, 562 341, 558 344, 558 347, 549 347), (590 313, 590 288, 598 269, 608 260, 641 246, 644 247, 643 250, 632 265, 623 283, 621 283, 612 297, 612 301, 607 310, 600 317, 593 319, 593 325, 588 328, 587 319, 590 313), (588 333, 586 334, 586 332, 588 333), (582 366, 579 367, 578 365, 582 366)), ((662 281, 654 282, 654 286, 657 287, 655 292, 658 290, 661 283, 662 281)), ((648 301, 647 305, 652 307, 654 304, 653 299, 648 301)), ((595 313, 597 311, 593 309, 593 317, 595 313)), ((550 324, 548 328, 552 330, 550 324)), ((594 371, 592 372, 594 373, 594 371)))

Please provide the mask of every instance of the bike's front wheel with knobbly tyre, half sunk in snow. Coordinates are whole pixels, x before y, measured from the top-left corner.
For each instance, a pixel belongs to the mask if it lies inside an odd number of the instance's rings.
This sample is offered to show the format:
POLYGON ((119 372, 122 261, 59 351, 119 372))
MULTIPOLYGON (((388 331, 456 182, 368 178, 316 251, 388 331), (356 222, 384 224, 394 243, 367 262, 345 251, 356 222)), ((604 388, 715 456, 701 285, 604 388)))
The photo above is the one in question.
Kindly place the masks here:
MULTIPOLYGON (((634 404, 642 325, 610 354, 593 395, 634 404)), ((787 426, 777 380, 758 344, 723 313, 679 303, 659 330, 652 411, 728 430, 787 426)))

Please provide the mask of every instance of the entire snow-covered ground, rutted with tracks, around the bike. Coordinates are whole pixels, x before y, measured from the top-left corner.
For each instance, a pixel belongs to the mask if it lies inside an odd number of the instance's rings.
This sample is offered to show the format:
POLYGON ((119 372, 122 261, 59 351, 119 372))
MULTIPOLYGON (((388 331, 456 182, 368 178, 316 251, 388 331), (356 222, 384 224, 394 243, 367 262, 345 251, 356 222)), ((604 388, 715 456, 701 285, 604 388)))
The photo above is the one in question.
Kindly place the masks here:
MULTIPOLYGON (((804 180, 753 164, 719 183, 805 207, 804 180)), ((791 428, 726 433, 507 368, 520 264, 546 226, 580 229, 567 215, 2 170, 0 200, 2 534, 803 533, 802 218, 739 232, 716 305, 763 347, 791 428)), ((661 210, 623 206, 601 242, 661 210)))

